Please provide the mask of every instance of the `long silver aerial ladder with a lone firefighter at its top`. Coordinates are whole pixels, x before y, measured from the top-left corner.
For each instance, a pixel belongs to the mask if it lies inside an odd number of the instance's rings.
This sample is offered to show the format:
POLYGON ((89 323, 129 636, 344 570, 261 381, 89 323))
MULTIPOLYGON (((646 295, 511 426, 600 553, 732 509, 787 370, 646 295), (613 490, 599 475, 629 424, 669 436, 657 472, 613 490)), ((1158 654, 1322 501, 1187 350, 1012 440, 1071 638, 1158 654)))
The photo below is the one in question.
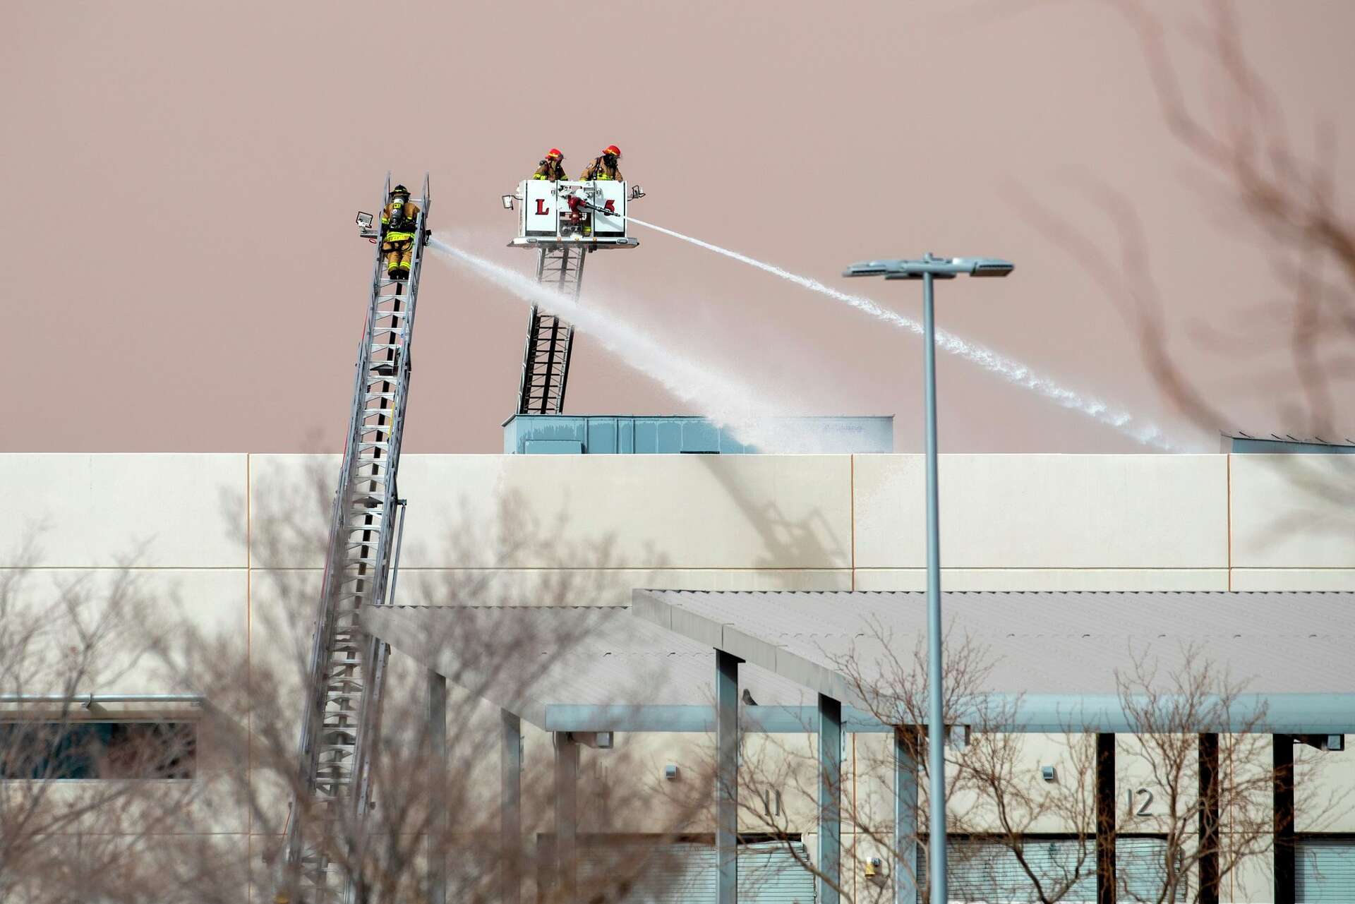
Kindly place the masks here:
MULTIPOLYGON (((385 209, 389 173, 382 198, 385 209)), ((355 870, 348 865, 362 857, 352 850, 355 839, 360 839, 354 827, 371 806, 371 749, 381 726, 381 689, 390 648, 363 633, 358 613, 362 606, 386 600, 393 584, 388 577, 398 567, 396 520, 404 500, 396 489, 396 470, 409 398, 419 272, 430 234, 427 173, 420 197, 409 201, 419 214, 408 278, 388 275, 382 229, 373 214, 358 214, 360 234, 377 243, 377 252, 304 689, 301 773, 276 897, 290 904, 351 900, 355 870)))

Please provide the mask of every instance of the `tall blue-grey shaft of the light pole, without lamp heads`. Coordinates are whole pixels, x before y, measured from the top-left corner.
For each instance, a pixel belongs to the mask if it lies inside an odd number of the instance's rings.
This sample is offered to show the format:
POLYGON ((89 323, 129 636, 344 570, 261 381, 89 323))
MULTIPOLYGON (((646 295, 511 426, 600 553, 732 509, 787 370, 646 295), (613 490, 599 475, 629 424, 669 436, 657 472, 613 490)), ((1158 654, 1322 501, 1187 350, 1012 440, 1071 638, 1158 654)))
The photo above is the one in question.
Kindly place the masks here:
MULTIPOLYGON (((931 259, 931 253, 927 255, 931 259)), ((946 725, 940 687, 940 531, 936 492, 936 327, 932 275, 923 274, 923 370, 927 390, 927 827, 931 900, 946 904, 946 725)))

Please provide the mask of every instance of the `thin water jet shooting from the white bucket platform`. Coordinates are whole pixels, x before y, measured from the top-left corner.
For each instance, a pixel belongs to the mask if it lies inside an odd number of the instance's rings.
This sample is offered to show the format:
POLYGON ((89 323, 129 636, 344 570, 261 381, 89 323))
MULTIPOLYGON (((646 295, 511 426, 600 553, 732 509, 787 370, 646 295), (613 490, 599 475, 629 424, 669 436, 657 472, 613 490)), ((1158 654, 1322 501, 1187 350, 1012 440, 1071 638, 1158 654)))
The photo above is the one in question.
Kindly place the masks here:
MULTIPOLYGON (((630 214, 626 214, 626 220, 646 229, 653 229, 654 232, 661 232, 665 236, 672 236, 673 239, 680 239, 683 241, 691 243, 706 251, 714 251, 717 255, 724 255, 732 258, 740 263, 745 263, 749 267, 756 267, 774 276, 780 276, 789 282, 795 283, 809 289, 810 291, 817 291, 821 295, 828 295, 835 301, 851 305, 856 310, 862 310, 873 317, 883 320, 885 323, 898 327, 900 329, 908 329, 916 335, 921 335, 923 325, 911 317, 905 317, 897 312, 881 308, 878 304, 866 298, 863 295, 854 295, 846 291, 839 291, 832 286, 825 286, 817 279, 810 279, 809 276, 801 276, 799 274, 793 274, 789 270, 776 267, 775 264, 768 264, 748 255, 741 255, 737 251, 730 251, 729 248, 721 248, 720 245, 713 245, 709 241, 702 241, 701 239, 694 239, 692 236, 684 236, 680 232, 673 232, 672 229, 665 229, 664 226, 657 226, 652 222, 645 222, 644 220, 637 220, 630 214)), ((1053 401, 1056 405, 1068 408, 1083 413, 1093 420, 1106 424, 1121 434, 1134 439, 1145 446, 1154 446, 1171 451, 1175 445, 1167 439, 1167 435, 1160 427, 1152 423, 1138 422, 1133 415, 1130 415, 1123 408, 1114 408, 1110 404, 1096 398, 1084 396, 1073 389, 1060 385, 1049 377, 1042 377, 1033 371, 1026 365, 1014 361, 1005 355, 1001 355, 992 348, 981 346, 978 343, 969 342, 967 339, 961 339, 955 333, 947 332, 944 329, 936 331, 936 346, 943 351, 948 351, 953 355, 958 355, 965 361, 978 365, 984 370, 997 374, 1003 379, 1016 386, 1030 389, 1034 393, 1053 401)))

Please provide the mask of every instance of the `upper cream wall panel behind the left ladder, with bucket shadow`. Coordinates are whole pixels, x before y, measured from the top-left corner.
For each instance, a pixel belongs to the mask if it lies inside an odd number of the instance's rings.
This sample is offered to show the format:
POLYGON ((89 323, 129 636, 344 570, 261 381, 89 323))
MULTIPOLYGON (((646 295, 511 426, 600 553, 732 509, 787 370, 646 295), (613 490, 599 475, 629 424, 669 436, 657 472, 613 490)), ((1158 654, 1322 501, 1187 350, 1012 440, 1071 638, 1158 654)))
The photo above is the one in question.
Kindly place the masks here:
MULTIPOLYGON (((314 510, 314 481, 332 487, 324 457, 252 461, 256 512, 314 510)), ((405 455, 402 562, 848 568, 850 472, 847 455, 405 455)), ((268 564, 313 568, 316 553, 268 564)))

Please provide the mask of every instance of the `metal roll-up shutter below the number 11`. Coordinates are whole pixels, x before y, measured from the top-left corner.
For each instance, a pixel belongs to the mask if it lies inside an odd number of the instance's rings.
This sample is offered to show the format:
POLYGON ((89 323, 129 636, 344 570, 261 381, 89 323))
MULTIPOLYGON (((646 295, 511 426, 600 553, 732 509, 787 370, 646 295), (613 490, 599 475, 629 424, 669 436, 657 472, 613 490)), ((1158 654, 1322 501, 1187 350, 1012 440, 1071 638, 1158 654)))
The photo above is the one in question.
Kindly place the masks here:
MULTIPOLYGON (((801 858, 805 848, 793 842, 801 858)), ((608 900, 625 904, 714 904, 715 848, 710 844, 637 846, 584 848, 579 863, 580 886, 608 892, 608 900), (630 874, 630 886, 615 886, 618 876, 630 874), (617 896, 617 897, 611 897, 617 896)), ((814 904, 813 873, 795 862, 782 842, 738 848, 738 900, 749 904, 814 904)))

